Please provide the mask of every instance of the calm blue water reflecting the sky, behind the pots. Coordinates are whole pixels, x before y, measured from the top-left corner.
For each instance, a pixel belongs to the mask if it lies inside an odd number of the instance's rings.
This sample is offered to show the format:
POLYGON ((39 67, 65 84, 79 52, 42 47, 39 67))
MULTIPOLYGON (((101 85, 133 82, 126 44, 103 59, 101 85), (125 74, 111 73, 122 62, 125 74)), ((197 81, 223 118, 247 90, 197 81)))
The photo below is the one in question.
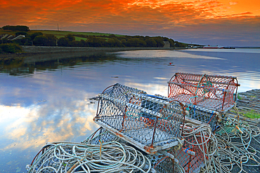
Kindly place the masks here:
POLYGON ((47 142, 88 137, 98 128, 97 102, 89 98, 109 85, 167 96, 167 81, 176 72, 236 76, 239 92, 260 88, 260 50, 138 50, 0 62, 0 172, 27 172, 25 165, 47 142))

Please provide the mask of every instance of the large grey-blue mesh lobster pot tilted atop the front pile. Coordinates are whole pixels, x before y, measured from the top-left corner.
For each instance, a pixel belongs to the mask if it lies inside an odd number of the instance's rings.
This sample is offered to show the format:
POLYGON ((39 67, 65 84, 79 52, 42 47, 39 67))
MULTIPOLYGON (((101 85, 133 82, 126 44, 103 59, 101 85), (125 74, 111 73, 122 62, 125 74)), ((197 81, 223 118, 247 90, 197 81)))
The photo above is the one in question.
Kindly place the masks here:
MULTIPOLYGON (((115 84, 99 95, 93 119, 117 137, 149 154, 179 144, 183 104, 115 84)), ((183 142, 183 141, 181 141, 183 142)))

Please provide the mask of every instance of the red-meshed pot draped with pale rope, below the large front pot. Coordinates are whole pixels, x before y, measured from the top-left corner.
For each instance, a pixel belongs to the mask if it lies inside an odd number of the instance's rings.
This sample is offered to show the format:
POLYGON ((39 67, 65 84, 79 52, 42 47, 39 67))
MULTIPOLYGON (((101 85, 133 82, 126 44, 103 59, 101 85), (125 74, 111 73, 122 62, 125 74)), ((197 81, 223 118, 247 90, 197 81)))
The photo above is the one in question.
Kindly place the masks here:
POLYGON ((167 153, 174 155, 178 165, 186 173, 198 173, 209 164, 214 144, 209 125, 194 125, 187 123, 183 129, 184 143, 181 147, 172 147, 167 153))

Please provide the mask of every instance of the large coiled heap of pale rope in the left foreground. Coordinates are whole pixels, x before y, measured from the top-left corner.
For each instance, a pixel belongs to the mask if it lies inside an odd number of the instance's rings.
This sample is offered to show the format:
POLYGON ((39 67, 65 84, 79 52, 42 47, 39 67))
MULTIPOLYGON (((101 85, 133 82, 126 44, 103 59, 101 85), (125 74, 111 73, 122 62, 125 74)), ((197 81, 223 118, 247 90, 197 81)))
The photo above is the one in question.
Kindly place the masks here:
MULTIPOLYGON (((150 172, 150 160, 131 146, 110 141, 96 144, 50 143, 28 172, 150 172)), ((39 152, 40 153, 40 152, 39 152)))

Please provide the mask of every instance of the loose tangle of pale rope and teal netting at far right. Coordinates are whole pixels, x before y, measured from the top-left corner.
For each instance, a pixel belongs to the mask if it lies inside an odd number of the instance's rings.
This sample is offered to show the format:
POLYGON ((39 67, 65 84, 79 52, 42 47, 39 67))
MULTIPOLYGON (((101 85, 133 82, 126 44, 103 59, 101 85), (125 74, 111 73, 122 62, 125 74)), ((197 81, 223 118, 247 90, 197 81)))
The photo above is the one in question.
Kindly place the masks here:
POLYGON ((260 129, 256 125, 249 124, 237 118, 226 118, 216 131, 218 140, 218 158, 222 166, 222 172, 230 172, 234 165, 240 168, 240 172, 247 172, 245 167, 259 167, 260 153, 258 148, 252 147, 252 140, 258 144, 260 129))

